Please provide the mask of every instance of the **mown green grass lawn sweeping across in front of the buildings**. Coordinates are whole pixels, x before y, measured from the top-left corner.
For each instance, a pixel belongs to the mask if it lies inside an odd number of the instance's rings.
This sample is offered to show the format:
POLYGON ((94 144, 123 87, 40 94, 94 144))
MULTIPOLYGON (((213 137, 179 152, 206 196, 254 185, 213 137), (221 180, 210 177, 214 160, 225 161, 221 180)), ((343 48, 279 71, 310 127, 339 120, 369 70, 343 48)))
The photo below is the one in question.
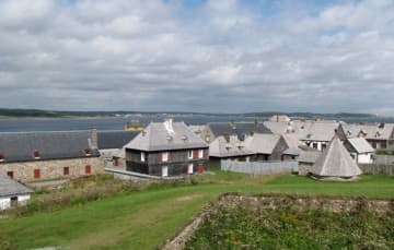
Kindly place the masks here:
MULTIPOLYGON (((198 184, 162 187, 89 202, 51 213, 0 221, 1 240, 12 249, 154 249, 176 234, 209 200, 223 192, 280 192, 394 198, 394 177, 362 176, 356 182, 320 182, 282 175, 251 178, 218 171, 198 184)), ((1 249, 1 243, 0 243, 1 249)))

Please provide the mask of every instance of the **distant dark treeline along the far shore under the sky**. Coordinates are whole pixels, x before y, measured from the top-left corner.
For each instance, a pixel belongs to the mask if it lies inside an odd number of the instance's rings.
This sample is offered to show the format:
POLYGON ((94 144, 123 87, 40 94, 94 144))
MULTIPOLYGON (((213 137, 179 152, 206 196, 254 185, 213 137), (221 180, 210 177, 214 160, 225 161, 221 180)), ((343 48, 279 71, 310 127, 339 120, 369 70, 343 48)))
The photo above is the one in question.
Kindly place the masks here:
POLYGON ((56 111, 56 110, 43 110, 43 109, 9 109, 0 108, 0 117, 47 117, 47 118, 61 118, 61 117, 115 117, 132 114, 141 115, 209 115, 209 116, 241 116, 241 117, 270 117, 273 115, 287 115, 290 117, 305 117, 305 118, 369 118, 375 117, 371 114, 315 114, 315 112, 246 112, 246 114, 205 114, 205 112, 137 112, 137 111, 56 111))

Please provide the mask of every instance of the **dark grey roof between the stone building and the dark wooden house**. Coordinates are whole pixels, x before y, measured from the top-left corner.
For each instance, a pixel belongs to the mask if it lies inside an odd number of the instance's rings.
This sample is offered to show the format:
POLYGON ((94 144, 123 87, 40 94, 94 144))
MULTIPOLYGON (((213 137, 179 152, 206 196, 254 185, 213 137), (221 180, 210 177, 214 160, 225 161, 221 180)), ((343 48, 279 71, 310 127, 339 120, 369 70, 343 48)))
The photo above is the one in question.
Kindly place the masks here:
POLYGON ((97 144, 99 150, 121 148, 138 135, 137 131, 99 131, 97 144))

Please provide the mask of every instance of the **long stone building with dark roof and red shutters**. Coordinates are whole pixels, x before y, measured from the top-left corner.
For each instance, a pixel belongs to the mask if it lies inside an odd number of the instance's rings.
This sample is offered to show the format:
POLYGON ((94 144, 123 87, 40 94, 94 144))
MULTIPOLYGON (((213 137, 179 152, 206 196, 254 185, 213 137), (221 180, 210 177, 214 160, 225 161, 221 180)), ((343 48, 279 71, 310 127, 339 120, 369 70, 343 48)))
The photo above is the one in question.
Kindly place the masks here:
POLYGON ((101 174, 92 131, 0 133, 0 175, 22 182, 101 174))

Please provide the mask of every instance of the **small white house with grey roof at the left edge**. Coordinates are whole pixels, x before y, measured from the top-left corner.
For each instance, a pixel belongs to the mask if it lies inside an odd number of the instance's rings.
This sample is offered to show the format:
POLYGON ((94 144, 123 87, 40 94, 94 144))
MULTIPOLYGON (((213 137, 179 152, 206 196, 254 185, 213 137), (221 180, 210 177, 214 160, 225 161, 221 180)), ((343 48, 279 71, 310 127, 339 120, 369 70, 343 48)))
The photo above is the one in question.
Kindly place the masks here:
POLYGON ((31 199, 32 193, 33 190, 16 180, 0 175, 0 210, 25 204, 31 199))

